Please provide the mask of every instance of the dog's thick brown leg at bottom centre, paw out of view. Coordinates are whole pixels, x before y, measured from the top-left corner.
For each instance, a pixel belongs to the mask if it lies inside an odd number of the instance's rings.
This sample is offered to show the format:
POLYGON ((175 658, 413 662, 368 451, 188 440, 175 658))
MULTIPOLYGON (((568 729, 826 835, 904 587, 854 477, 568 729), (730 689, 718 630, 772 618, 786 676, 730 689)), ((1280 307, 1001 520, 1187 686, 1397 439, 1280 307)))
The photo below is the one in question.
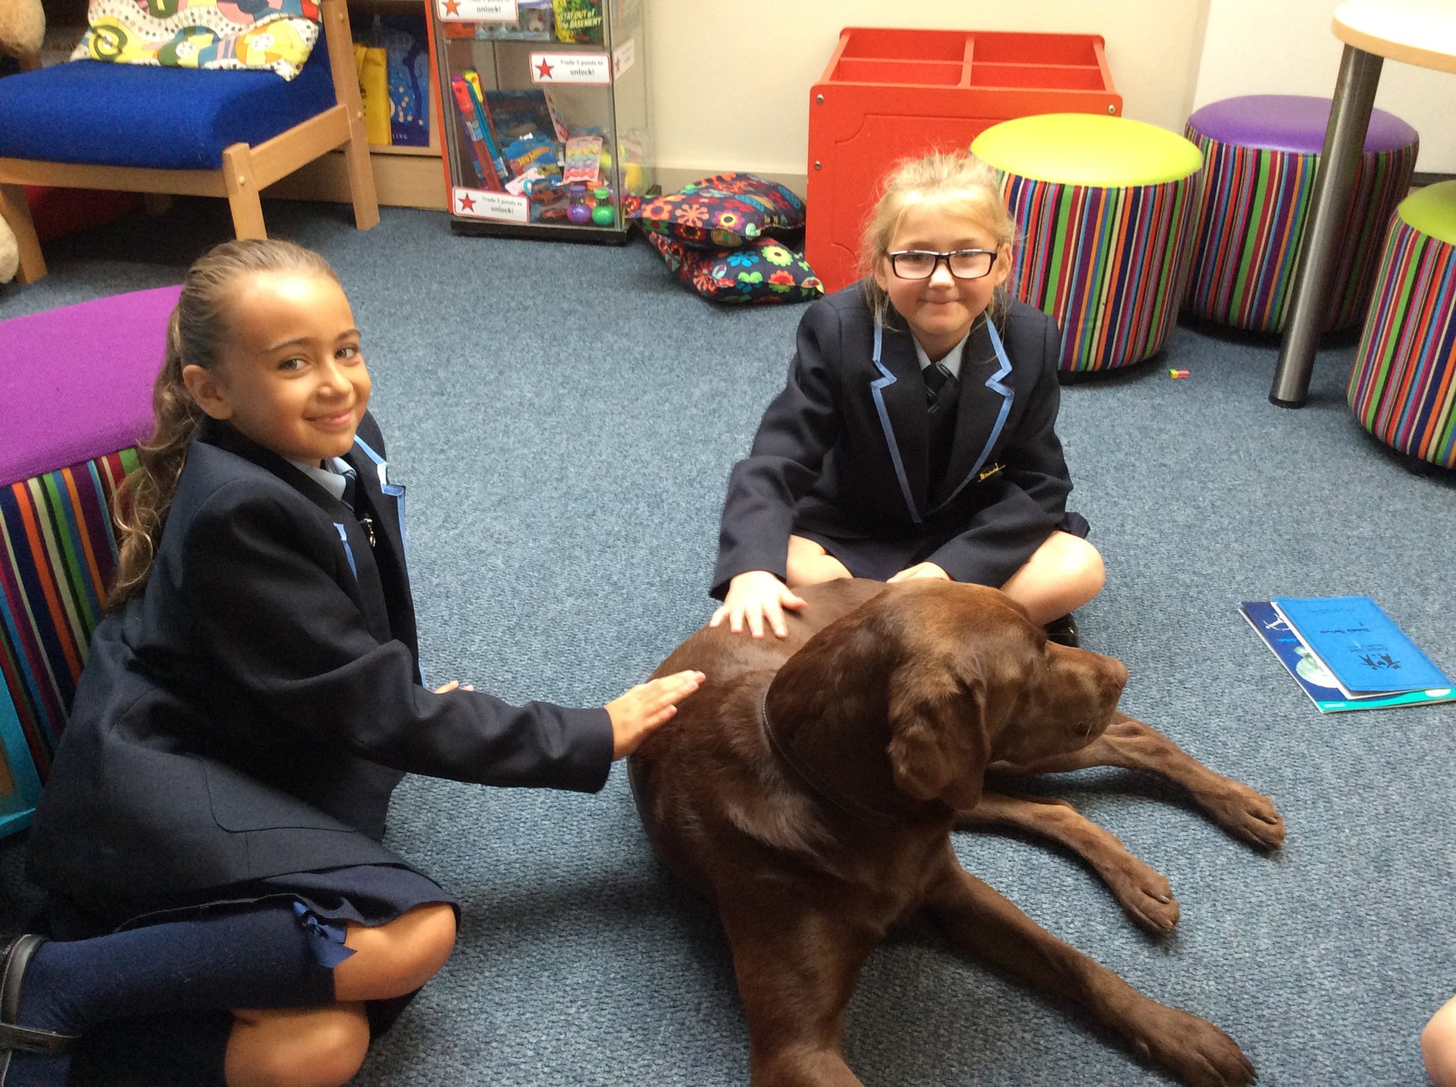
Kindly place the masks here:
POLYGON ((751 1087, 862 1087, 844 1064, 844 1007, 878 934, 802 907, 719 904, 748 1020, 751 1087))

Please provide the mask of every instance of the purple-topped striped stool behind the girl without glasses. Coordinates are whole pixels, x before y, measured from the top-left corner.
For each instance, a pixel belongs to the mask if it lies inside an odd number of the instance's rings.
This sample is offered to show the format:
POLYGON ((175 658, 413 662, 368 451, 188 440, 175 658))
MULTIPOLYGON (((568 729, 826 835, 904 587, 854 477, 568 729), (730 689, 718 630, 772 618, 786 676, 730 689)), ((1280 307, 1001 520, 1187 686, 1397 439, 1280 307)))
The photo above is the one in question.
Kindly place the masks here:
POLYGON ((116 562, 179 287, 0 322, 0 680, 44 779, 116 562))

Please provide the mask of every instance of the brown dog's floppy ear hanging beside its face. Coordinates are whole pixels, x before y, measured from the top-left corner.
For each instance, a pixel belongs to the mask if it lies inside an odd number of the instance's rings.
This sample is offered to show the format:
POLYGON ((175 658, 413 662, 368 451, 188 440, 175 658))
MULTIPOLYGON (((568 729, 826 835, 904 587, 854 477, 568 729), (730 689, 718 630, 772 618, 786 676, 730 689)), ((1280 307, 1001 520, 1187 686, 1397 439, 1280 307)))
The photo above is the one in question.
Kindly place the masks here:
POLYGON ((895 669, 890 681, 890 765, 895 786, 917 800, 970 811, 981 799, 990 757, 986 685, 961 681, 926 662, 895 669))

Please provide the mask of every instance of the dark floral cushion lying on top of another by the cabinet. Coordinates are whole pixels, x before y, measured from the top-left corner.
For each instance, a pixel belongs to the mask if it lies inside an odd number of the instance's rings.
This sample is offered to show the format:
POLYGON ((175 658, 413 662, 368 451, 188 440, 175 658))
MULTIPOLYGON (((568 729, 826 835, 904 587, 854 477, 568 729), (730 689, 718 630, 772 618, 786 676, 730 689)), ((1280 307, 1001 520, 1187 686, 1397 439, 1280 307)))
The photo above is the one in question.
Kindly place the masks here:
POLYGON ((804 201, 751 173, 718 173, 630 212, 644 230, 697 249, 735 249, 804 228, 804 201))

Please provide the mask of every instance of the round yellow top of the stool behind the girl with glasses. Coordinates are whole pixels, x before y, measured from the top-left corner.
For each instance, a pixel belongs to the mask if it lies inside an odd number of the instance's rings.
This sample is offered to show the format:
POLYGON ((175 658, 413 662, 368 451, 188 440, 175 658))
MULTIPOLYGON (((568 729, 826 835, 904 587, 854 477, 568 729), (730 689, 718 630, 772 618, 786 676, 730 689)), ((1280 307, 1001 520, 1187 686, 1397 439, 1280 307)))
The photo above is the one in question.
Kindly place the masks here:
POLYGON ((992 125, 971 153, 997 170, 1034 180, 1128 188, 1179 180, 1203 154, 1166 128, 1098 114, 1038 114, 992 125))

